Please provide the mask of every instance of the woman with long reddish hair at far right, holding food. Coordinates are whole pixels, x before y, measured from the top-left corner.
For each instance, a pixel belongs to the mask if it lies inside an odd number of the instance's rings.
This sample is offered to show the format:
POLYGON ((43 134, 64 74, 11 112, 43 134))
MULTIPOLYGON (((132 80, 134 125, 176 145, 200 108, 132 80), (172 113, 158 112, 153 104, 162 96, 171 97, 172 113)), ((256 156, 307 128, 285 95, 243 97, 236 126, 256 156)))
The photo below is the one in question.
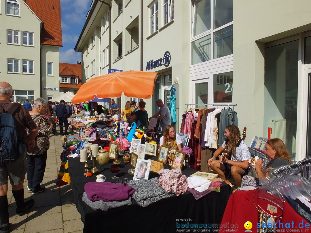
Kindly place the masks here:
MULTIPOLYGON (((267 156, 271 158, 270 162, 268 162, 267 164, 266 171, 270 169, 274 169, 276 167, 283 166, 283 165, 288 165, 291 162, 291 159, 285 147, 285 144, 279 138, 269 139, 267 141, 265 151, 266 151, 267 156)), ((260 158, 255 162, 255 169, 257 171, 259 180, 262 177, 265 177, 264 173, 261 171, 262 166, 263 166, 263 162, 262 162, 262 159, 260 158)), ((268 172, 266 173, 266 177, 268 177, 268 172)))

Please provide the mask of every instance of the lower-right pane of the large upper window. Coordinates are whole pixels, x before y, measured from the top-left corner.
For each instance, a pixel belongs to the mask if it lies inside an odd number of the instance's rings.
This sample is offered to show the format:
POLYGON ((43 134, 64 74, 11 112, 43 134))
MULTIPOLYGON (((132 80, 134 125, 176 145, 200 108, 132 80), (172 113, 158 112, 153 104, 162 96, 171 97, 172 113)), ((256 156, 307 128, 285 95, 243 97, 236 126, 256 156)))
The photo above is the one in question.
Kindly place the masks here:
POLYGON ((233 25, 214 33, 214 58, 232 54, 233 25))

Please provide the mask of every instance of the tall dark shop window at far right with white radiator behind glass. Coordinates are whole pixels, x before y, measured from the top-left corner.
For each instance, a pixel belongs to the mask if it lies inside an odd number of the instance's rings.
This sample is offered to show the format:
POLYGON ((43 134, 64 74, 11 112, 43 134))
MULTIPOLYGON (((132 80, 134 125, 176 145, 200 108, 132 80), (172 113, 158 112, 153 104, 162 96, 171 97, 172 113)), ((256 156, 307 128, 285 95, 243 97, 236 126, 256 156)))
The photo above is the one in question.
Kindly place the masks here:
POLYGON ((264 130, 272 127, 271 137, 280 138, 292 158, 296 155, 298 51, 295 40, 265 48, 264 53, 264 130))

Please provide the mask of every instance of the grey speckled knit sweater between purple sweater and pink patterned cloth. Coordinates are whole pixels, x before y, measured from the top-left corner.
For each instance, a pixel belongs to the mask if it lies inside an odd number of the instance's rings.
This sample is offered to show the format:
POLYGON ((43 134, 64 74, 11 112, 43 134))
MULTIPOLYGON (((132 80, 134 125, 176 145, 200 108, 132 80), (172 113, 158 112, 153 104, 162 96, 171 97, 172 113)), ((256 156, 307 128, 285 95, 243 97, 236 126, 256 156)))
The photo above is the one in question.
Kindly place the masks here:
POLYGON ((142 207, 146 207, 163 198, 173 196, 174 193, 168 193, 161 185, 156 184, 158 177, 150 180, 130 180, 131 185, 136 191, 132 198, 142 207))

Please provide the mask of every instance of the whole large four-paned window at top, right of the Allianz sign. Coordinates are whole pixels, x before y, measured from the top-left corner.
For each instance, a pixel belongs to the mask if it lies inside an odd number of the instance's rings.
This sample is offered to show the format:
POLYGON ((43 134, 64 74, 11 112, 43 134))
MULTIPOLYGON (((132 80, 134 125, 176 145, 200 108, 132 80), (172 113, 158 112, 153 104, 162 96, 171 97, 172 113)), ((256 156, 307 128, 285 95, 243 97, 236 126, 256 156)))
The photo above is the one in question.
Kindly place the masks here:
POLYGON ((233 54, 233 0, 197 0, 192 17, 192 65, 233 54))

